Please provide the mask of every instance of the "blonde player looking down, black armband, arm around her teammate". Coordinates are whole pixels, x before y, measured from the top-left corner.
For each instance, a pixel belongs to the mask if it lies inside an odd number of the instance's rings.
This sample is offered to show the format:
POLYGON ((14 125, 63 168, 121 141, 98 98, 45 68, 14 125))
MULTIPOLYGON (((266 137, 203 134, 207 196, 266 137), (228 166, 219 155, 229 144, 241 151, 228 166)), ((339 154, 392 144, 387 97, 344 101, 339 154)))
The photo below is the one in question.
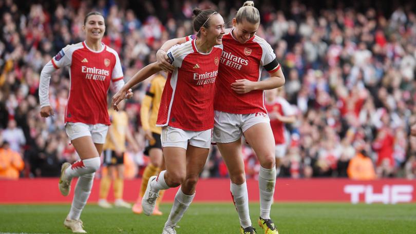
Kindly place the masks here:
MULTIPOLYGON (((218 70, 215 95, 215 126, 213 141, 228 167, 231 193, 240 219, 240 233, 256 233, 249 216, 247 184, 241 155, 241 136, 253 147, 260 162, 260 217, 258 223, 264 233, 278 233, 270 219, 276 183, 275 144, 270 120, 264 107, 266 89, 285 84, 280 65, 271 46, 256 36, 260 14, 252 1, 247 1, 233 18, 233 28, 223 37, 224 50, 218 70), (261 70, 270 78, 260 81, 261 70)), ((164 52, 172 45, 190 38, 169 40, 157 53, 160 67, 172 70, 164 52)))

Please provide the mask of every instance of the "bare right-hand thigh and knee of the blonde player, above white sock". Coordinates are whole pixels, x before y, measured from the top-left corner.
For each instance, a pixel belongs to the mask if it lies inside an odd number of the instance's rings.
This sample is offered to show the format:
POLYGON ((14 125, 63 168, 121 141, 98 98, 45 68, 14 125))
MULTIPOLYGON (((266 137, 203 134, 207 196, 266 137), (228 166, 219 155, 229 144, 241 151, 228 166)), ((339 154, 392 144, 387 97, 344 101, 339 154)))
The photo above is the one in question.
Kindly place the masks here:
POLYGON ((251 126, 244 132, 245 139, 253 148, 260 164, 274 166, 275 162, 275 143, 272 128, 269 123, 258 123, 251 126))

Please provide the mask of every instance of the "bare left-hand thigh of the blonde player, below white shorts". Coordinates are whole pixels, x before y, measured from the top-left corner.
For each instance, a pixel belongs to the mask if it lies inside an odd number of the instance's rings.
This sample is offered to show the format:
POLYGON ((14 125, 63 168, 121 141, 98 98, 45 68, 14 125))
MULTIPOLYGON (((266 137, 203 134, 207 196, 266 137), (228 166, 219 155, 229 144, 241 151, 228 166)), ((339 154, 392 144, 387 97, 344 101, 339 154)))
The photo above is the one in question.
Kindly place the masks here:
POLYGON ((241 139, 231 143, 217 143, 230 177, 244 175, 244 161, 241 155, 241 139))

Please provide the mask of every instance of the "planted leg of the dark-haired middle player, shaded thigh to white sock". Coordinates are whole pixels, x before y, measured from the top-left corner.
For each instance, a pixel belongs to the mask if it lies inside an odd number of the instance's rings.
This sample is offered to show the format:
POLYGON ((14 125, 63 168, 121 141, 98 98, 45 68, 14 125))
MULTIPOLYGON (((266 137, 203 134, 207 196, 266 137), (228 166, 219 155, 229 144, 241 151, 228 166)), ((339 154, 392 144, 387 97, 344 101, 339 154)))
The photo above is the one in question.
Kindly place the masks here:
MULTIPOLYGON (((191 205, 195 197, 195 187, 199 174, 205 165, 210 149, 187 146, 186 150, 186 178, 175 196, 171 213, 165 223, 164 229, 175 229, 183 214, 191 205)), ((168 232, 169 233, 169 232, 168 232)))

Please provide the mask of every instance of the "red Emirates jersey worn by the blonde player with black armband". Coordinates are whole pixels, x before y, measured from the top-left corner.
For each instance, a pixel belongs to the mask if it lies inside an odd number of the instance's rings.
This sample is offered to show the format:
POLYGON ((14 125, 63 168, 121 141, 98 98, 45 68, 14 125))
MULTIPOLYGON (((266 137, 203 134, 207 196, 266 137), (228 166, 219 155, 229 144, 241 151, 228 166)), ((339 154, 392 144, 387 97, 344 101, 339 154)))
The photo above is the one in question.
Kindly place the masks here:
POLYGON ((259 36, 241 44, 233 37, 232 30, 222 37, 222 44, 214 109, 236 114, 267 113, 263 90, 238 94, 231 89, 231 84, 241 79, 260 81, 263 67, 269 72, 280 69, 272 47, 259 36))

